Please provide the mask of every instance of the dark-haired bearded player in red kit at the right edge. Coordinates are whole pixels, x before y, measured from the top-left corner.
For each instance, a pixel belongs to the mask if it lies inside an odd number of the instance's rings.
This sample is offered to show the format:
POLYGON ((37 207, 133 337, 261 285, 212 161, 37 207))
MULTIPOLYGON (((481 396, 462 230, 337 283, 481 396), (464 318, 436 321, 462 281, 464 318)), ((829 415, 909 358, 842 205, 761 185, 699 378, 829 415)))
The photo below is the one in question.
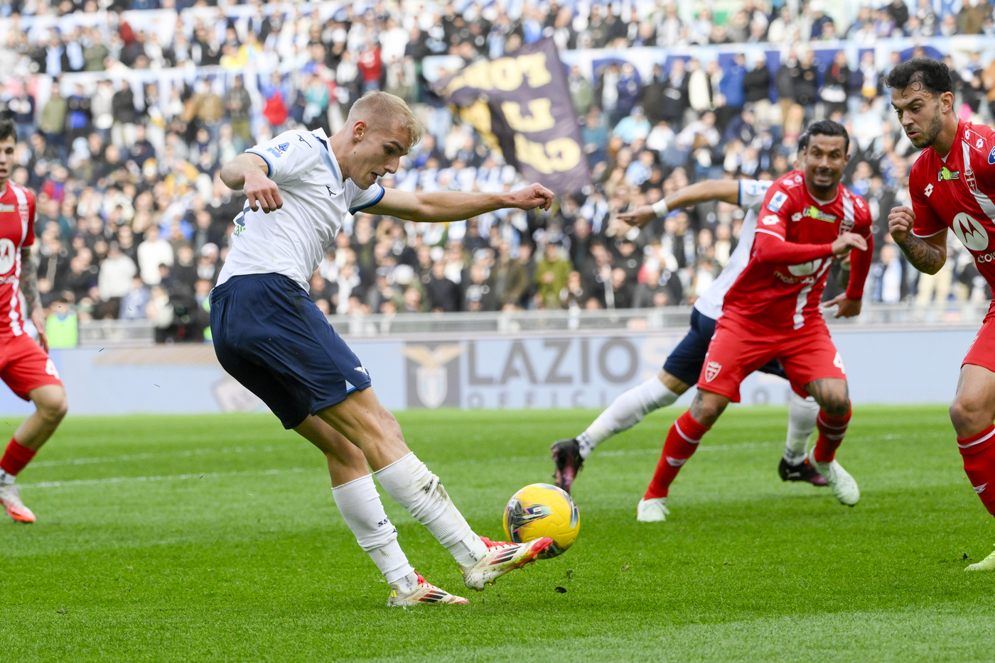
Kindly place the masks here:
MULTIPOLYGON (((915 58, 888 77, 892 105, 912 145, 924 148, 908 175, 912 209, 897 207, 888 228, 908 261, 934 274, 946 261, 946 230, 995 287, 995 131, 958 121, 946 65, 915 58)), ((950 420, 964 472, 995 515, 995 304, 960 367, 950 420)), ((968 571, 995 571, 995 553, 968 571)))

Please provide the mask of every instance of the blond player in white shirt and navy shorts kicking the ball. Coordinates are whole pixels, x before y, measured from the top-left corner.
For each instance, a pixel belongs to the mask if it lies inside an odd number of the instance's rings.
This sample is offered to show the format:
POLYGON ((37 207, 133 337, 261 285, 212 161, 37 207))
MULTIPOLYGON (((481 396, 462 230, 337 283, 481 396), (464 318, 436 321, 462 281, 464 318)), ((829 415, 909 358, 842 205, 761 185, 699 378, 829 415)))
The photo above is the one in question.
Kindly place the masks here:
POLYGON ((552 192, 538 184, 505 194, 413 194, 377 184, 397 170, 423 133, 400 97, 372 91, 331 137, 320 129, 288 131, 229 162, 221 179, 243 189, 248 200, 235 218, 232 249, 211 292, 211 332, 221 365, 286 428, 324 452, 335 504, 390 583, 388 604, 400 606, 467 599, 415 573, 373 475, 453 555, 473 589, 534 562, 551 543, 492 542, 473 532, 439 477, 406 446, 362 363, 307 295, 323 249, 347 213, 450 222, 552 203, 552 192))

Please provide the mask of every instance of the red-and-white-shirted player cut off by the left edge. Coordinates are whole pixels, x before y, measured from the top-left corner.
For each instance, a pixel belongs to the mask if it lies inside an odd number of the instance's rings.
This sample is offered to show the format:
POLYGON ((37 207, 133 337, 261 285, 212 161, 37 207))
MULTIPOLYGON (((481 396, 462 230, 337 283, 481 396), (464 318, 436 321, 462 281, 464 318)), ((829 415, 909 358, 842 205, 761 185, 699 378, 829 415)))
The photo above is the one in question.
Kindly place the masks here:
POLYGON ((24 506, 14 479, 55 432, 67 406, 66 390, 47 353, 45 314, 31 257, 35 196, 9 179, 16 145, 14 122, 0 120, 0 378, 38 410, 17 427, 0 458, 0 504, 14 520, 34 523, 35 514, 24 506), (25 332, 29 318, 41 346, 25 332))

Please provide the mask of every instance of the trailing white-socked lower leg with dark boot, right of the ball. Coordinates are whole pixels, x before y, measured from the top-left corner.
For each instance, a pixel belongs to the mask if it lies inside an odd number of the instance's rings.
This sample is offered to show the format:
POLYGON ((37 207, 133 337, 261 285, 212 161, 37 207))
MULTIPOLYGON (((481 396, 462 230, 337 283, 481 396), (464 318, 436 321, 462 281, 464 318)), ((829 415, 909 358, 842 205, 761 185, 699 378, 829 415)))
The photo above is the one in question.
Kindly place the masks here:
POLYGON ((672 405, 689 389, 687 383, 661 371, 659 375, 619 395, 591 422, 587 430, 576 437, 557 440, 549 447, 553 459, 553 483, 569 493, 584 459, 594 447, 612 435, 628 430, 647 414, 672 405))

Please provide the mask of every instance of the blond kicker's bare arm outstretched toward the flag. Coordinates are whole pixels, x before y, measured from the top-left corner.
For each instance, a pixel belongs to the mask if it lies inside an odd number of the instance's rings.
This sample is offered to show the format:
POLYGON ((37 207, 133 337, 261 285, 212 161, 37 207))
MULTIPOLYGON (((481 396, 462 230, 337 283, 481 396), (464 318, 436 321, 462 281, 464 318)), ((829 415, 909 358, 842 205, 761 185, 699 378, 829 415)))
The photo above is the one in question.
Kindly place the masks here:
POLYGON ((541 184, 532 184, 506 194, 477 194, 459 191, 437 191, 413 194, 396 189, 384 189, 383 198, 365 210, 369 214, 397 217, 406 221, 463 221, 503 208, 548 210, 553 192, 541 184))

